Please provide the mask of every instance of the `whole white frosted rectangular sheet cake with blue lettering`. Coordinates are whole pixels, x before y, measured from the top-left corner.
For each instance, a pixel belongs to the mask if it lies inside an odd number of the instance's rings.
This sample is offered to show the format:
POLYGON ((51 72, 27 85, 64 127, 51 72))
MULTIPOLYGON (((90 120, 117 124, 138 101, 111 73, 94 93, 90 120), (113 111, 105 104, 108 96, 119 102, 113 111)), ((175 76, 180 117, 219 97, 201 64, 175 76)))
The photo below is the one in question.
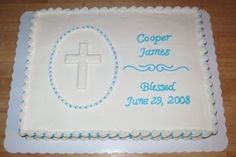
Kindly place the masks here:
POLYGON ((19 135, 203 139, 217 133, 201 10, 33 12, 19 135))

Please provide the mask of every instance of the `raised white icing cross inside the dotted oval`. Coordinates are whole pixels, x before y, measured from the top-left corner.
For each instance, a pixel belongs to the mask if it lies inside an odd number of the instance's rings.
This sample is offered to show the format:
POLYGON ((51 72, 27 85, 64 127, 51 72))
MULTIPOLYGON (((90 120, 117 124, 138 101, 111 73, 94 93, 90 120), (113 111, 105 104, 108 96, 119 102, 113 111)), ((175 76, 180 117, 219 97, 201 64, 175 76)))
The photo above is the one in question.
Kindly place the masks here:
POLYGON ((77 88, 87 88, 87 69, 88 64, 100 64, 101 55, 88 54, 88 43, 79 44, 79 54, 65 55, 66 64, 77 64, 77 88))

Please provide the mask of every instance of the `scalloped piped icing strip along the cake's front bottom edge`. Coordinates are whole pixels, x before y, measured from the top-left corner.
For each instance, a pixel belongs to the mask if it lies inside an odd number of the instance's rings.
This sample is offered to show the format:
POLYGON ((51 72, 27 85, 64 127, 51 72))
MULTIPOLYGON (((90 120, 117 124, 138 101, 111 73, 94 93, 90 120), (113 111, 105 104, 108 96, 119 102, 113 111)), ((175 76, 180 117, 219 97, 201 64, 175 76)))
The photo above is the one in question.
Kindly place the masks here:
POLYGON ((132 130, 126 131, 65 131, 65 132, 49 132, 49 131, 32 131, 28 130, 20 133, 26 139, 53 139, 53 140, 199 140, 209 137, 209 131, 206 130, 132 130))

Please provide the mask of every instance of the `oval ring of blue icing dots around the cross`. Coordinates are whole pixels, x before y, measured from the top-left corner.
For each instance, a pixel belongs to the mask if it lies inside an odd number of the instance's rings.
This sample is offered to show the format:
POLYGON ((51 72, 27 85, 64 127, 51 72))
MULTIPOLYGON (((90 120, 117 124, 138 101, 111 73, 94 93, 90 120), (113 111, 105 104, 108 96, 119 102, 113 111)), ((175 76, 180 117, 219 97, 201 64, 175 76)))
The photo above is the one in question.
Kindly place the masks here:
POLYGON ((118 57, 117 57, 117 53, 115 48, 112 45, 112 42, 110 41, 110 39, 108 38, 108 36, 99 28, 92 26, 92 25, 84 25, 84 26, 79 26, 79 27, 74 27, 68 31, 66 31, 65 33, 63 33, 54 43, 52 51, 50 52, 49 55, 49 64, 48 64, 48 77, 49 77, 49 84, 50 87, 53 90, 54 95, 56 96, 56 98, 65 106, 70 107, 70 108, 74 108, 74 109, 89 109, 95 106, 98 106, 99 104, 101 104, 102 102, 104 102, 108 96, 111 94, 114 85, 116 83, 117 80, 117 75, 118 75, 118 68, 119 68, 119 64, 118 64, 118 57), (72 104, 70 102, 68 102, 59 92, 59 90, 56 87, 55 81, 54 81, 54 76, 53 76, 53 64, 54 64, 54 60, 55 60, 55 56, 56 56, 56 49, 58 47, 58 45, 61 43, 61 41, 69 36, 70 34, 79 31, 79 30, 92 30, 95 31, 97 33, 99 33, 104 39, 105 41, 108 43, 111 51, 112 51, 112 56, 113 56, 113 61, 114 61, 114 69, 113 69, 113 78, 110 84, 110 87, 108 88, 108 90, 105 92, 105 95, 102 96, 100 99, 98 99, 97 101, 95 101, 94 103, 91 104, 72 104))

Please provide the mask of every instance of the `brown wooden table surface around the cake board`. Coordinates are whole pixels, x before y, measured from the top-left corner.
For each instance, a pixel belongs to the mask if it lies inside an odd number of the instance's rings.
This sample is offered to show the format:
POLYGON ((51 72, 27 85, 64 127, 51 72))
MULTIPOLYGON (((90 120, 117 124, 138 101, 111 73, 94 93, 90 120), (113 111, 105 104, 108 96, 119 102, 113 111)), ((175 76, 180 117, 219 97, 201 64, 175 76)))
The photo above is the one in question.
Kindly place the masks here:
MULTIPOLYGON (((114 6, 197 6, 206 10, 211 16, 215 40, 218 69, 220 72, 222 96, 224 100, 227 136, 229 145, 223 152, 202 153, 164 153, 148 156, 236 156, 236 1, 76 1, 76 0, 6 0, 0 1, 0 156, 41 156, 40 154, 10 154, 4 150, 9 91, 19 20, 25 11, 42 8, 80 8, 80 7, 114 7, 114 6), (234 84, 235 82, 235 84, 234 84)), ((78 155, 78 154, 77 154, 78 155)), ((84 156, 147 156, 147 154, 81 154, 84 156)), ((51 156, 44 154, 42 156, 51 156)), ((56 154, 56 156, 75 156, 56 154)))

